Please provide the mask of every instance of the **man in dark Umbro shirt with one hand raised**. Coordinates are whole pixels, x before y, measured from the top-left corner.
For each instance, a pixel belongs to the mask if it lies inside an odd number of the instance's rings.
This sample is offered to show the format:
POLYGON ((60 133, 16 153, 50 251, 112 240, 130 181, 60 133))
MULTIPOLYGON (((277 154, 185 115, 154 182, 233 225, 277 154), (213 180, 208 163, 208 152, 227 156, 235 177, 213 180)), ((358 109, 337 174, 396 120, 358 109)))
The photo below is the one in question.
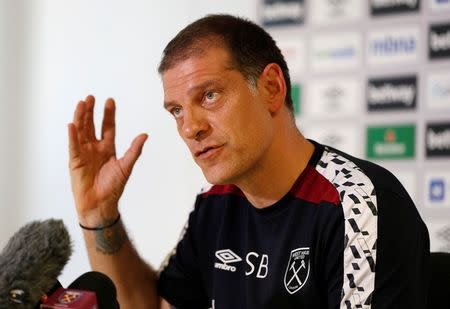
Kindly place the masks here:
POLYGON ((118 211, 147 136, 116 159, 112 99, 100 140, 92 96, 69 124, 90 262, 114 280, 122 308, 425 307, 429 241, 413 202, 385 169, 302 136, 287 65, 263 29, 200 19, 168 44, 159 72, 164 107, 214 184, 160 273, 118 211))

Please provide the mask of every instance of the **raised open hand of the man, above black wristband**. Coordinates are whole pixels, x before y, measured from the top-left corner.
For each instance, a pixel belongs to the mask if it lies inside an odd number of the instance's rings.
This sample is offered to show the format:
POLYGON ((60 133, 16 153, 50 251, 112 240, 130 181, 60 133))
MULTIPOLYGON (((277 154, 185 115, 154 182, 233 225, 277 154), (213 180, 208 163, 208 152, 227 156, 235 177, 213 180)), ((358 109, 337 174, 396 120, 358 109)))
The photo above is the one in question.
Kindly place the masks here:
POLYGON ((119 198, 147 139, 147 134, 138 135, 118 159, 114 100, 106 100, 100 139, 95 136, 94 102, 93 96, 80 101, 68 125, 72 191, 80 223, 87 226, 117 217, 119 198))

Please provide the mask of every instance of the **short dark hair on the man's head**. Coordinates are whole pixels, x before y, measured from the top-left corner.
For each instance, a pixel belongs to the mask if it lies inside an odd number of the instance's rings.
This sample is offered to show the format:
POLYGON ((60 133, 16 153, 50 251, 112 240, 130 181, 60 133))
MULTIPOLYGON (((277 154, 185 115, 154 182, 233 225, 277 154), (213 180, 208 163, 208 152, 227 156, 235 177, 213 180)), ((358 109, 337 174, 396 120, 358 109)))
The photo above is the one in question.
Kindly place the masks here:
POLYGON ((278 64, 286 82, 285 103, 293 112, 289 69, 280 49, 263 28, 241 17, 214 14, 189 24, 167 44, 158 72, 163 74, 214 45, 228 50, 232 65, 255 87, 264 68, 269 63, 278 64))

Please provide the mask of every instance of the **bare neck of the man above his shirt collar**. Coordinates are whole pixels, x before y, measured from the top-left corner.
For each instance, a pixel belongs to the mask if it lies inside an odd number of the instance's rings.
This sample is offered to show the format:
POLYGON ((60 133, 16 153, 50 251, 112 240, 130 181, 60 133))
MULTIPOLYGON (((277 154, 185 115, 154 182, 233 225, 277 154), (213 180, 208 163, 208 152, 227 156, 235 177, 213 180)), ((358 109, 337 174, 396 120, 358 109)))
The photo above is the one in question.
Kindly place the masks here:
POLYGON ((314 152, 293 124, 279 133, 255 170, 235 184, 256 208, 265 208, 279 201, 303 172, 314 152))

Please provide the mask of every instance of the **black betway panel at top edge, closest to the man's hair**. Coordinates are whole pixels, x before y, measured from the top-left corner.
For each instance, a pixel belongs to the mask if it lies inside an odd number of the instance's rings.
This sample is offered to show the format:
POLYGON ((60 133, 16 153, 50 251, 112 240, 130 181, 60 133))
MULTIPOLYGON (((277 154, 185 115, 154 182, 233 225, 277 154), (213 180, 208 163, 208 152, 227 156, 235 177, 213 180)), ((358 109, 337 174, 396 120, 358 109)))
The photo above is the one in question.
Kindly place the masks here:
POLYGON ((281 20, 302 20, 305 10, 299 2, 275 2, 265 4, 263 8, 265 23, 276 23, 281 20))

